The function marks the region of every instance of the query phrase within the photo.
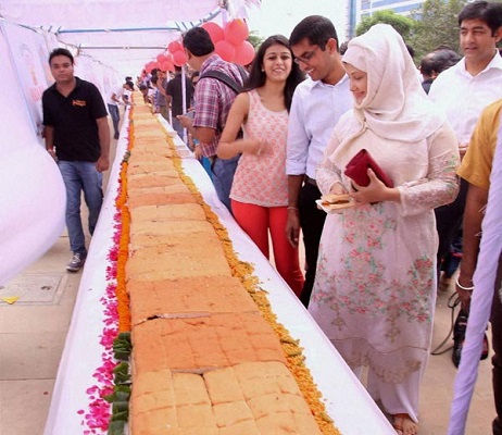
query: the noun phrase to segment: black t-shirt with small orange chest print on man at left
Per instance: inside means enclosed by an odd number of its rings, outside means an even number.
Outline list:
[[[75,77],[75,89],[64,97],[55,84],[42,96],[43,125],[54,128],[54,147],[58,159],[96,162],[101,154],[98,123],[108,115],[98,88]]]

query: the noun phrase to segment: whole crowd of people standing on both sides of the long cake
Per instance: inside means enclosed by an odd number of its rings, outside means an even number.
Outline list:
[[[452,246],[462,257],[453,351],[455,365],[461,362],[501,116],[502,4],[468,3],[459,27],[463,57],[438,47],[417,70],[390,25],[373,26],[341,50],[332,23],[308,16],[289,39],[265,39],[248,71],[221,59],[209,33],[194,27],[183,40],[193,72],[185,83],[180,69],[171,79],[158,70],[138,83],[145,101],[205,161],[218,198],[267,258],[271,238],[278,273],[354,373],[367,368],[368,393],[405,435],[418,433],[436,295],[441,271],[445,279],[454,273],[454,265],[444,266]],[[91,84],[73,77],[73,58],[59,50],[49,60],[55,84],[43,95],[43,124],[47,149],[74,199],[66,222],[83,262],[79,186],[93,210],[92,231],[110,137],[104,103]],[[88,102],[85,122],[79,104],[65,109],[70,96]],[[109,101],[115,135],[120,98],[116,89]],[[85,128],[88,142],[65,127],[63,110],[75,112],[71,121]],[[378,166],[363,169],[368,183],[346,174],[362,150]],[[348,196],[351,207],[326,213],[316,201],[327,195]],[[495,435],[502,434],[500,287],[499,274]],[[480,358],[488,340],[485,347]]]

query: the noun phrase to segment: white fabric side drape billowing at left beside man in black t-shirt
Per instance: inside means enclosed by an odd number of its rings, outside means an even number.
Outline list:
[[[21,51],[27,41],[15,37],[29,35],[29,30],[10,32],[13,49],[8,46],[5,27],[0,27],[0,285],[53,245],[63,231],[66,207],[60,171],[40,146],[33,123],[36,117],[41,125],[43,38],[40,46],[33,38],[34,46]],[[23,69],[15,70],[10,52],[20,63],[25,59]],[[23,89],[21,83],[28,88]]]

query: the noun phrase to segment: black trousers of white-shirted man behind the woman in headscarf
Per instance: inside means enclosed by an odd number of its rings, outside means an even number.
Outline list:
[[[435,209],[436,228],[438,229],[438,277],[441,260],[450,252],[450,246],[459,234],[462,220],[464,219],[465,199],[467,197],[468,183],[461,178],[461,186],[456,199],[447,206]]]

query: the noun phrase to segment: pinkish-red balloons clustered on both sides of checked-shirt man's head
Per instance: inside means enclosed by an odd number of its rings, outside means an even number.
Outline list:
[[[223,60],[235,62],[239,65],[248,65],[254,59],[254,47],[247,40],[249,36],[248,25],[243,20],[229,21],[223,28],[213,22],[202,24],[210,35],[214,45],[214,51]],[[147,73],[153,69],[174,71],[174,66],[181,66],[187,62],[184,47],[179,41],[172,41],[167,50],[145,65]]]

